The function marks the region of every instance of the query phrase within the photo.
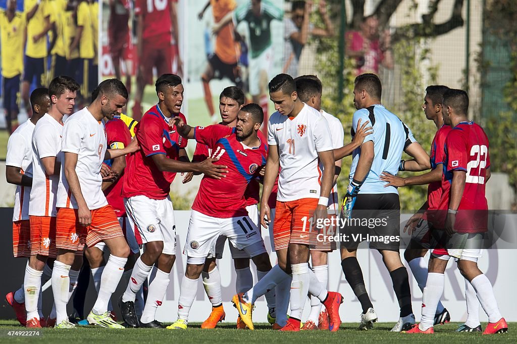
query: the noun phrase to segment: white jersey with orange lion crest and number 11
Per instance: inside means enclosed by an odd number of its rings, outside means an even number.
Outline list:
[[[280,155],[277,200],[319,198],[322,171],[318,152],[332,150],[330,128],[325,117],[307,104],[290,118],[277,111],[268,123],[269,149],[277,145]]]

